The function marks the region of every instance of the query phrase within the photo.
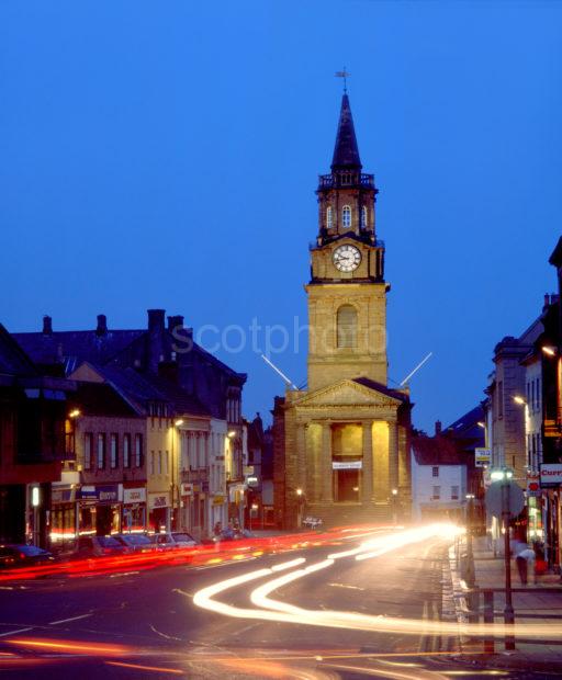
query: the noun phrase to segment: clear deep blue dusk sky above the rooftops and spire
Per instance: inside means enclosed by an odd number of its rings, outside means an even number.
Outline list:
[[[561,30],[540,0],[4,0],[0,320],[304,324],[347,65],[381,192],[390,376],[432,351],[415,422],[454,420],[555,287]],[[305,349],[272,354],[297,384]],[[279,377],[251,347],[218,355],[249,375],[246,415],[267,412]]]

